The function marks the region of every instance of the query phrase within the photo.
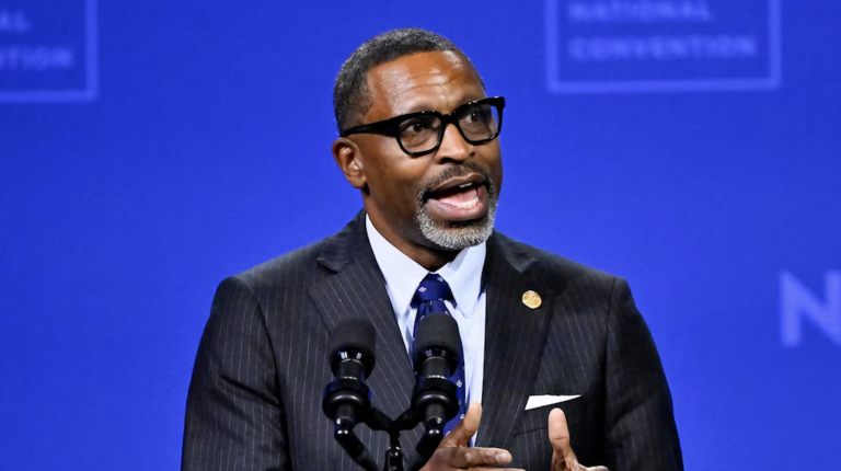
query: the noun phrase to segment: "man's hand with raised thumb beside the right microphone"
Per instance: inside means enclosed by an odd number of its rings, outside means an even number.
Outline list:
[[[471,402],[464,420],[457,425],[449,435],[443,437],[441,444],[426,462],[420,471],[505,471],[496,468],[499,464],[511,462],[511,453],[500,448],[471,448],[468,447],[471,437],[476,434],[479,423],[482,420],[482,406],[477,402]],[[492,467],[492,468],[486,468]],[[517,471],[517,470],[508,470]],[[519,470],[522,471],[522,470]]]

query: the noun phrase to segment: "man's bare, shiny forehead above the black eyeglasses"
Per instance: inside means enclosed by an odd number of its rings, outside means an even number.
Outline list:
[[[372,119],[424,110],[449,113],[484,97],[473,67],[454,51],[418,53],[382,64],[368,72]]]

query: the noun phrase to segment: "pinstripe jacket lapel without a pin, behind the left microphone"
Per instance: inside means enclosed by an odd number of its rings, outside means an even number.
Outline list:
[[[411,404],[415,376],[385,291],[385,280],[368,242],[365,212],[331,238],[319,262],[335,273],[310,288],[310,297],[330,330],[352,317],[373,324],[377,366],[367,383],[373,391],[373,405],[396,418]],[[416,427],[403,433],[408,437],[403,440],[404,448],[412,448],[418,441],[418,432]]]

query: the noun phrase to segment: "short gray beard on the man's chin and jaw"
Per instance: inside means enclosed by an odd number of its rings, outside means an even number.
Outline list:
[[[418,195],[417,214],[415,215],[415,221],[420,230],[420,234],[435,245],[447,250],[462,250],[487,241],[494,232],[497,196],[493,182],[489,180],[486,188],[487,211],[485,215],[472,221],[453,222],[449,227],[441,227],[433,220],[424,204],[424,192],[420,192]]]

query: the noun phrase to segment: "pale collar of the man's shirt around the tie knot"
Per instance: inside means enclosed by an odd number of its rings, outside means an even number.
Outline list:
[[[417,286],[429,272],[387,241],[373,227],[368,215],[365,216],[365,227],[394,308],[399,313],[405,314]],[[456,307],[465,318],[470,318],[475,311],[482,292],[482,268],[485,265],[486,251],[485,242],[469,246],[459,252],[452,262],[434,272],[450,285]]]

